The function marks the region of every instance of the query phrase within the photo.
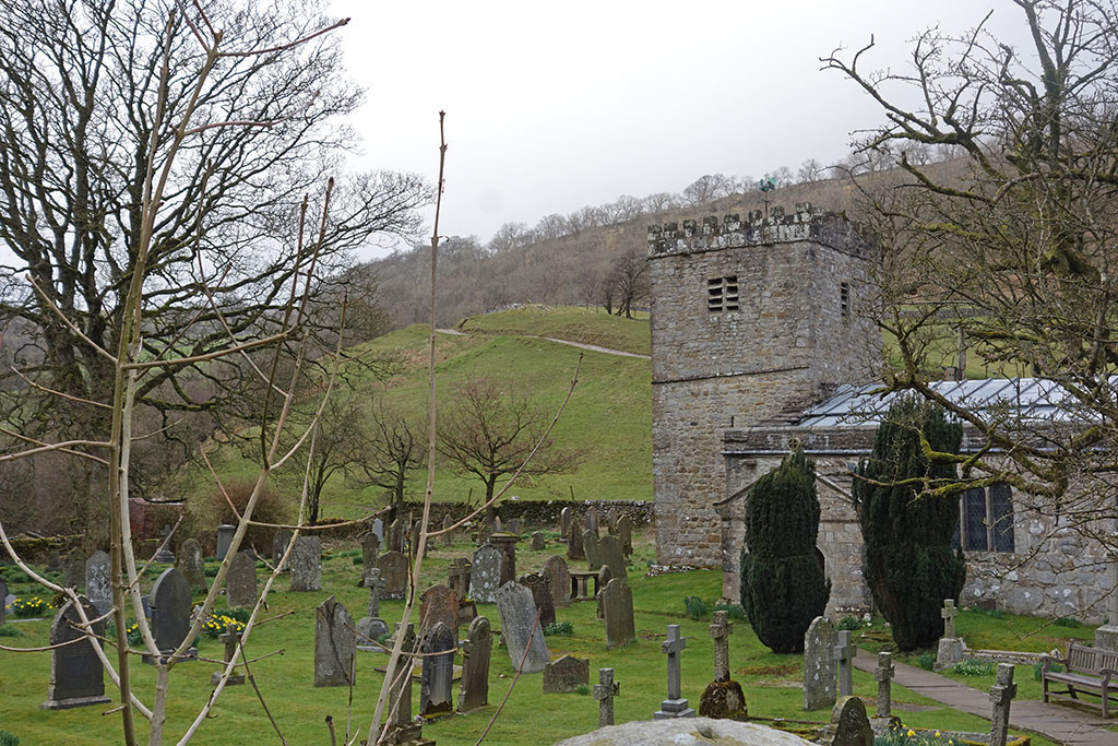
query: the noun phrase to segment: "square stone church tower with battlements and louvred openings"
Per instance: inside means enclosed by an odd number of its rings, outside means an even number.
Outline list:
[[[650,228],[659,564],[722,565],[726,429],[794,421],[873,378],[875,257],[853,224],[808,204]]]

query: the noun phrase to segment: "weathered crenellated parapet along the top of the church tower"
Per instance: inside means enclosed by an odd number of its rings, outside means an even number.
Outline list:
[[[750,210],[746,219],[737,213],[709,216],[698,220],[648,226],[648,257],[688,255],[701,252],[750,245],[813,240],[853,256],[875,255],[873,243],[858,223],[842,213],[817,210],[811,202],[798,202],[795,211],[774,206],[768,217],[761,210]]]

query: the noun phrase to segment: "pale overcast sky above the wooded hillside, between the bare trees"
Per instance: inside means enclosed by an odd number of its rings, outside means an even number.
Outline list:
[[[331,3],[352,17],[347,67],[367,89],[357,164],[434,181],[445,110],[440,233],[483,242],[704,173],[834,162],[881,115],[821,56],[873,34],[864,67],[896,67],[921,30],[963,31],[992,9],[1020,40],[1010,0]]]

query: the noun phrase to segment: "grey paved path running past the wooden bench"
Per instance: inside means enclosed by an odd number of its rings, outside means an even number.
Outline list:
[[[854,668],[873,672],[878,657],[859,650]],[[894,662],[897,676],[893,683],[930,697],[964,712],[989,718],[989,692],[974,689],[945,676],[925,671],[915,665]],[[899,708],[898,708],[899,709]],[[1083,712],[1071,707],[1045,705],[1034,699],[1015,699],[1010,708],[1010,727],[1033,730],[1064,744],[1065,746],[1118,746],[1118,733],[1107,730],[1101,716]]]

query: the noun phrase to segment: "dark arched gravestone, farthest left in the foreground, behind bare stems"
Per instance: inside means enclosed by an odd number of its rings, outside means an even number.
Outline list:
[[[97,611],[84,597],[79,597],[86,616],[98,616]],[[73,601],[67,601],[55,614],[50,625],[50,644],[61,645],[70,640],[80,640],[85,633],[75,624],[82,621]],[[92,626],[94,635],[105,635],[105,622]],[[50,683],[47,687],[47,701],[40,706],[45,710],[65,710],[72,707],[87,705],[104,705],[110,700],[105,697],[104,669],[93,645],[98,644],[87,639],[85,642],[55,648],[50,651]],[[10,693],[10,692],[9,692]]]

